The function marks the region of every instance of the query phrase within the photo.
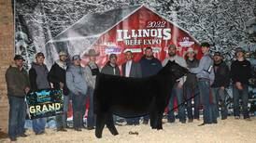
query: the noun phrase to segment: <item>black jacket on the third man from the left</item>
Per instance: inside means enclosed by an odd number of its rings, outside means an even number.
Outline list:
[[[48,80],[50,83],[53,84],[53,88],[60,89],[60,82],[64,83],[64,95],[68,95],[68,88],[66,86],[66,80],[65,80],[65,72],[66,70],[62,67],[60,67],[56,62],[51,66],[49,74],[48,74]]]

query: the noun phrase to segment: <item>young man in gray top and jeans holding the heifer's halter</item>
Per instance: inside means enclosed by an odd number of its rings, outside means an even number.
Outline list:
[[[210,45],[208,43],[201,44],[202,53],[204,56],[199,61],[199,66],[197,68],[191,68],[192,73],[196,73],[198,80],[198,87],[200,92],[200,97],[202,98],[203,108],[204,108],[204,123],[217,123],[217,116],[214,110],[216,101],[213,101],[210,97],[211,88],[210,85],[214,81],[214,71],[213,71],[213,60],[209,55]]]

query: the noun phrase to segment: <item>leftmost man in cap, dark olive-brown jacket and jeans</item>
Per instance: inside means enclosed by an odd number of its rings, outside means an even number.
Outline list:
[[[14,64],[6,72],[7,96],[9,101],[8,136],[16,141],[19,136],[25,135],[26,104],[25,96],[30,90],[27,72],[23,69],[21,55],[14,57]]]

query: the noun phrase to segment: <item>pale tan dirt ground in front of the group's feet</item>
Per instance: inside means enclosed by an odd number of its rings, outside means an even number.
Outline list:
[[[40,143],[40,142],[109,142],[109,143],[155,143],[155,142],[177,142],[177,143],[211,143],[211,142],[256,142],[256,117],[251,121],[243,119],[235,120],[230,116],[227,120],[218,120],[217,124],[207,124],[198,126],[203,121],[193,121],[193,123],[166,123],[164,130],[152,130],[149,125],[123,125],[116,126],[120,135],[112,136],[107,128],[104,129],[103,137],[98,139],[94,136],[94,130],[83,129],[82,132],[68,129],[67,132],[56,132],[53,129],[46,129],[46,134],[36,136],[31,130],[28,130],[27,137],[19,137],[17,142],[21,143]],[[129,134],[137,132],[138,135]],[[0,142],[10,142],[8,138],[1,138]]]

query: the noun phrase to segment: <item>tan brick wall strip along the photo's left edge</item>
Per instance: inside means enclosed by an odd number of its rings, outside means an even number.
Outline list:
[[[0,128],[7,131],[8,100],[5,72],[14,55],[11,0],[0,0]]]

